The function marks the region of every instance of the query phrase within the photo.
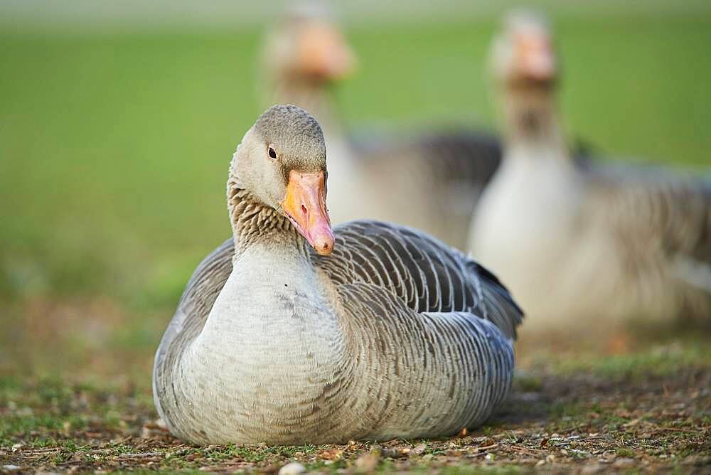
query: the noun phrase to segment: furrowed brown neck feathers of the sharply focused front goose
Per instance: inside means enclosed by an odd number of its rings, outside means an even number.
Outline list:
[[[228,210],[235,240],[235,257],[256,243],[296,247],[306,255],[306,241],[294,225],[274,208],[265,205],[240,186],[240,180],[230,167],[227,183]]]

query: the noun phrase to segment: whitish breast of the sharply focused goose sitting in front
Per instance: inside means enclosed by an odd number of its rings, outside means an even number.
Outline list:
[[[235,262],[176,378],[184,404],[200,407],[186,410],[193,422],[183,424],[191,429],[183,437],[278,440],[289,415],[309,423],[304,414],[338,367],[340,331],[318,288],[314,272],[274,250],[250,250]]]

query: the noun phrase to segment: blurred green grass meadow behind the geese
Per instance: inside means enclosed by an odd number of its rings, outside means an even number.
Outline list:
[[[711,4],[640,11],[552,16],[567,132],[605,155],[707,173]],[[228,163],[265,106],[262,28],[2,24],[0,370],[53,368],[38,346],[91,365],[87,344],[149,370],[189,275],[230,233]],[[495,129],[486,53],[498,25],[348,28],[360,69],[335,91],[346,123]]]

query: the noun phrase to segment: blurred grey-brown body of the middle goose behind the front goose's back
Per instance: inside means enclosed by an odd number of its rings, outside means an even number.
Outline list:
[[[496,137],[464,130],[387,137],[359,154],[363,175],[378,191],[369,217],[466,249],[471,213],[501,161]]]

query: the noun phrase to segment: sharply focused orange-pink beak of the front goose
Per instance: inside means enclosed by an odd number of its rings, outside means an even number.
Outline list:
[[[333,251],[335,238],[326,210],[324,172],[315,174],[289,171],[287,196],[282,205],[287,218],[320,255]]]

